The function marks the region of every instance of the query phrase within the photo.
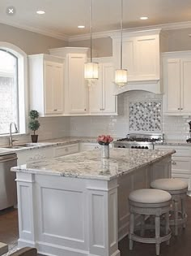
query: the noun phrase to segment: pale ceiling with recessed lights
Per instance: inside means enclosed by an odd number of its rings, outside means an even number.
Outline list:
[[[191,21],[191,0],[123,0],[124,28]],[[93,32],[120,28],[119,0],[92,0]],[[6,7],[15,7],[13,16]],[[38,9],[45,15],[37,15]],[[148,16],[148,20],[139,20]],[[89,0],[0,0],[0,23],[19,28],[76,36],[89,33]],[[86,28],[79,29],[84,24]]]

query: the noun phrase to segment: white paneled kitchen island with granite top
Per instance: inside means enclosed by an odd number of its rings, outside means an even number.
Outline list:
[[[171,177],[173,153],[112,149],[104,159],[91,150],[11,168],[17,175],[19,247],[57,256],[119,256],[130,191]]]

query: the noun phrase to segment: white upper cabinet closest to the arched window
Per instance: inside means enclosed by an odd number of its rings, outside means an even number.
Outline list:
[[[63,115],[64,59],[35,54],[28,60],[30,109],[40,116]]]

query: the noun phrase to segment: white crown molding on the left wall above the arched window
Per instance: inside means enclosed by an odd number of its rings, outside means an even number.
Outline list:
[[[27,26],[27,25],[23,25],[23,24],[19,24],[19,23],[5,22],[1,19],[0,19],[0,23],[9,25],[11,27],[28,30],[28,31],[31,31],[33,33],[38,33],[38,34],[41,34],[41,35],[44,35],[44,36],[47,36],[47,37],[53,37],[53,38],[57,38],[57,39],[60,39],[60,40],[63,40],[63,41],[69,41],[69,36],[68,35],[61,34],[61,33],[56,33],[55,31],[50,30],[48,28],[34,28],[32,26]]]

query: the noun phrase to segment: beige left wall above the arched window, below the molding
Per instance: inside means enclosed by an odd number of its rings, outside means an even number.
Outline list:
[[[48,53],[50,48],[67,46],[66,41],[0,24],[0,41],[18,46],[26,54]]]

